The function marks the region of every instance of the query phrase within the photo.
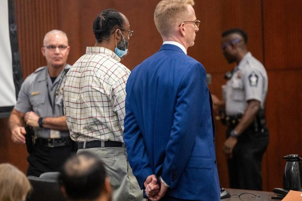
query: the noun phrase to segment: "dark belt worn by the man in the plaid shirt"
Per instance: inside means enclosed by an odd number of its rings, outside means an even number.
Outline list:
[[[85,145],[85,146],[84,146]],[[89,149],[97,147],[125,147],[122,142],[93,140],[86,142],[78,142],[78,149]]]

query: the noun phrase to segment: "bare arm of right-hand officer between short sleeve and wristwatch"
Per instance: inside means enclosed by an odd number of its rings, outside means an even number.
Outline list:
[[[249,127],[249,125],[254,122],[257,112],[260,109],[260,102],[258,100],[250,100],[241,121],[238,123],[234,129],[239,135]]]

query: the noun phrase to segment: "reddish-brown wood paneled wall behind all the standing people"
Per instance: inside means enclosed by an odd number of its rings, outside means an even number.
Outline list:
[[[129,19],[134,34],[129,55],[122,61],[133,69],[156,52],[162,39],[156,30],[153,13],[158,0],[15,0],[21,65],[24,77],[45,65],[41,54],[44,34],[52,29],[67,33],[71,47],[68,62],[73,64],[94,46],[92,23],[105,8],[114,8]],[[229,28],[241,28],[248,33],[248,48],[264,63],[269,89],[266,116],[270,143],[263,159],[263,190],[282,187],[285,161],[282,156],[302,154],[302,2],[300,0],[211,0],[196,1],[195,12],[201,21],[195,45],[188,54],[204,64],[212,75],[209,88],[221,97],[223,75],[233,68],[222,56],[221,33]],[[27,168],[25,146],[10,140],[7,120],[0,120],[4,141],[0,146],[0,162],[11,162],[23,171]],[[216,155],[223,187],[228,187],[226,159],[222,153],[226,128],[216,122]],[[5,152],[3,151],[5,150]]]

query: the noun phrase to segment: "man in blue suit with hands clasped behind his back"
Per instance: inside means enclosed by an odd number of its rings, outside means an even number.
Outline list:
[[[193,0],[158,3],[154,21],[164,43],[133,69],[126,85],[129,163],[154,201],[220,200],[206,72],[187,56],[200,24],[193,5]]]

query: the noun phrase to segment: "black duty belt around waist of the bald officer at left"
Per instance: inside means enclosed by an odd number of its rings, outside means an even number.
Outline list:
[[[70,137],[62,138],[36,138],[33,140],[35,145],[46,146],[46,147],[62,147],[71,144]]]

